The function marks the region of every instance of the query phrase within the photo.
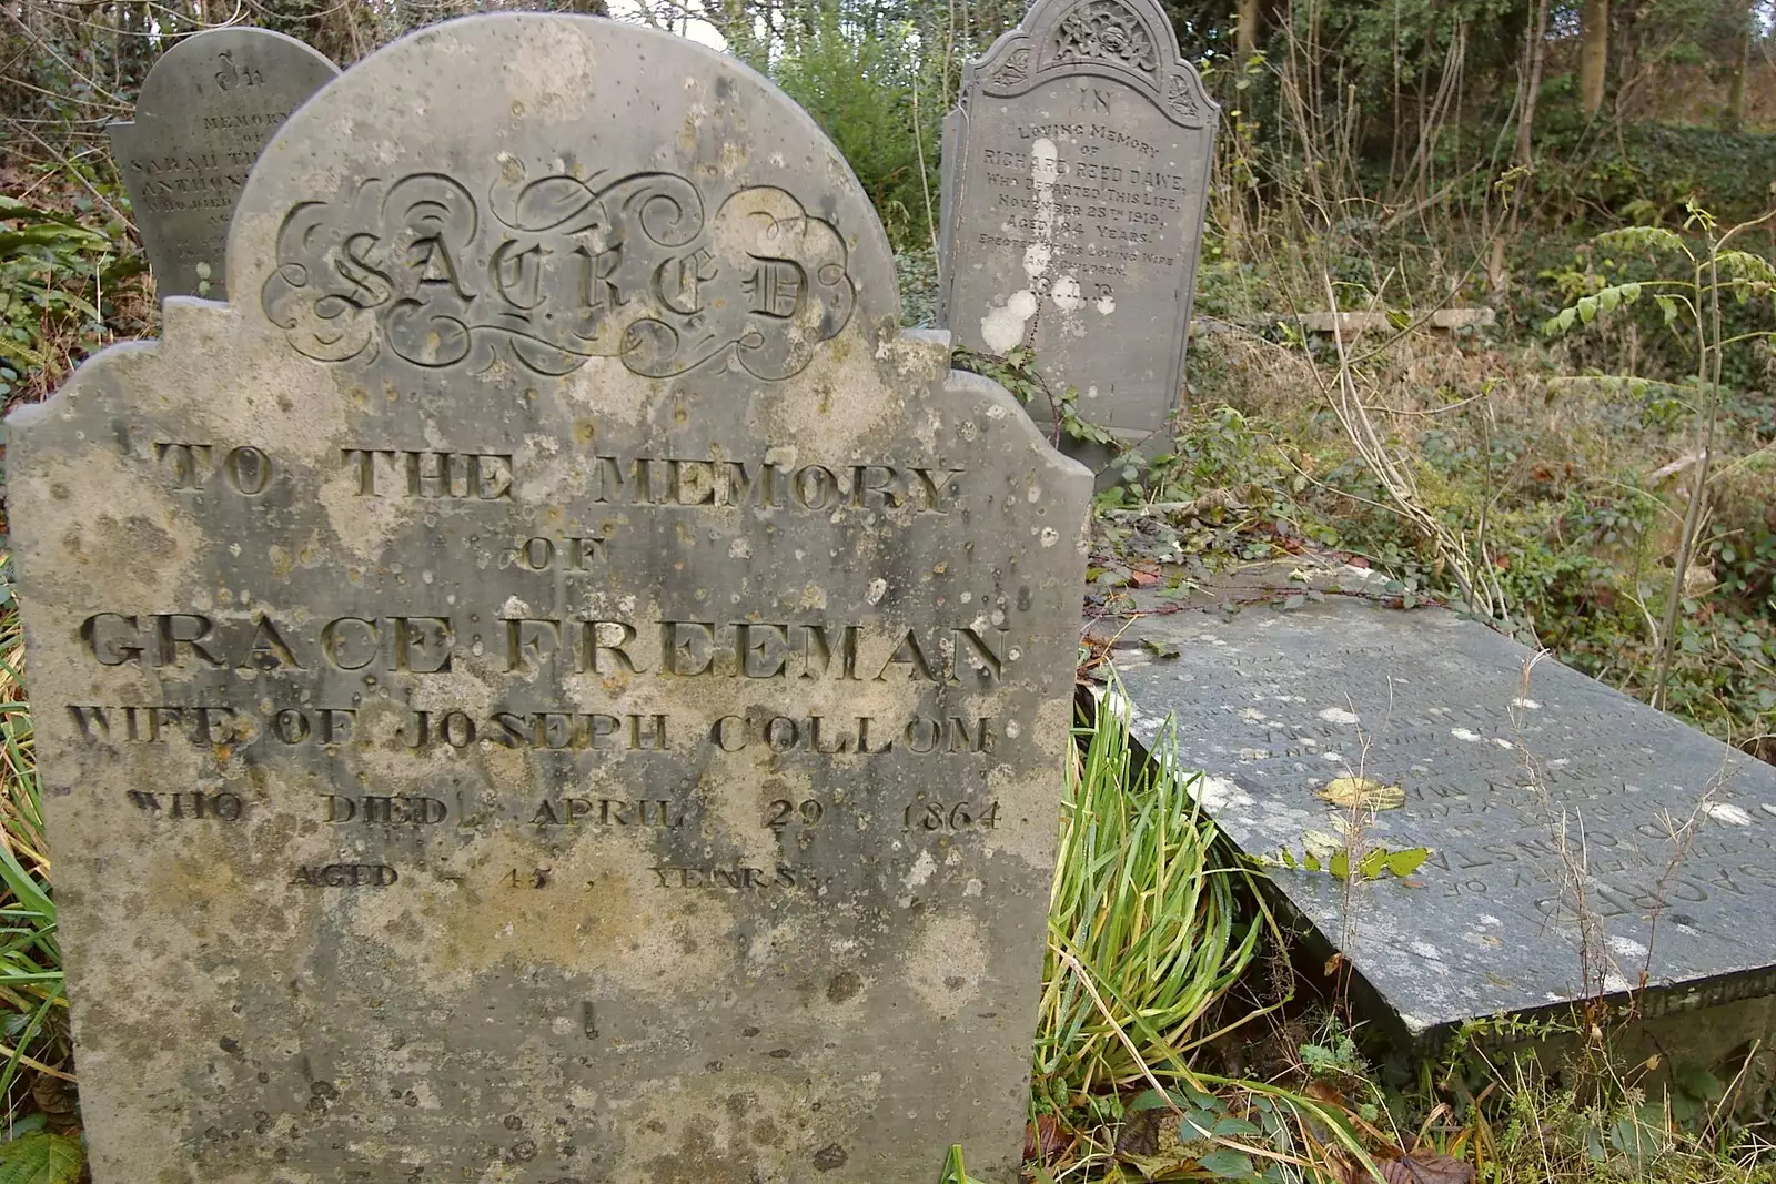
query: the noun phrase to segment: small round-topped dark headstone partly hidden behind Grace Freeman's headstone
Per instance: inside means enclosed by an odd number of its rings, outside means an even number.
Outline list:
[[[222,250],[234,201],[265,142],[339,67],[268,28],[211,28],[167,50],[110,124],[155,288],[226,300]]]

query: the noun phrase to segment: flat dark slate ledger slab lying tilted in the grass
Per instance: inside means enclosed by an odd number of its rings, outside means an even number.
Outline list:
[[[1357,847],[1431,849],[1421,886],[1346,898],[1272,872],[1396,1037],[1621,996],[1643,971],[1643,1015],[1776,994],[1776,769],[1440,609],[1183,612],[1122,644],[1137,737],[1176,717],[1179,765],[1247,852],[1343,838],[1350,811],[1316,795],[1336,777],[1399,786]]]

